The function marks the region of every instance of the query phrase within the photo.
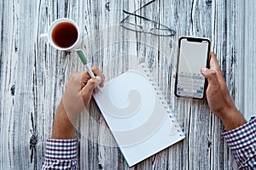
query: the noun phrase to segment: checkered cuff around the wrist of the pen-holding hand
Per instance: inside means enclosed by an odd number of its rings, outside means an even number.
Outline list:
[[[46,160],[74,160],[76,158],[77,139],[47,139]]]

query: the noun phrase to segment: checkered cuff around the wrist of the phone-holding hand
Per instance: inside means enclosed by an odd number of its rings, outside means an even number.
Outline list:
[[[240,150],[248,145],[256,144],[256,118],[247,124],[222,133],[231,150]]]

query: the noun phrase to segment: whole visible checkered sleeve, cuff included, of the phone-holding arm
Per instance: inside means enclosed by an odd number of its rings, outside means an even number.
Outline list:
[[[247,124],[222,133],[239,169],[256,169],[256,117]]]

